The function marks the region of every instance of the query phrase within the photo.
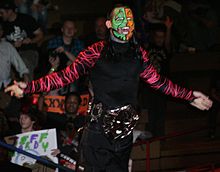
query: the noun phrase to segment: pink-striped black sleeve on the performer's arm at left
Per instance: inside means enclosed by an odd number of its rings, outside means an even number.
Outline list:
[[[104,42],[97,42],[82,51],[76,60],[65,69],[29,82],[24,89],[24,94],[48,92],[74,82],[95,65],[96,61],[100,58],[103,47]]]

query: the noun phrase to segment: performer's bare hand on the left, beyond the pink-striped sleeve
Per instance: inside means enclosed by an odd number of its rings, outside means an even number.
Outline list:
[[[23,89],[27,87],[27,84],[24,82],[14,81],[14,84],[5,88],[5,92],[10,92],[11,96],[15,96],[17,98],[22,98]]]

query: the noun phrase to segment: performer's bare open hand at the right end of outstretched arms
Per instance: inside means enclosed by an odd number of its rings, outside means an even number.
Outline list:
[[[190,104],[197,107],[200,110],[209,110],[212,107],[212,100],[208,96],[199,92],[193,91],[193,95],[196,97]]]

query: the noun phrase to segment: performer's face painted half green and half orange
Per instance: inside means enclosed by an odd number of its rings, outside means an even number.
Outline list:
[[[134,31],[134,17],[131,9],[119,7],[113,10],[112,16],[113,35],[122,40],[128,41]]]

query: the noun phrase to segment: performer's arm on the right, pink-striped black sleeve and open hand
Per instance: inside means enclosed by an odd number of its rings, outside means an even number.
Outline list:
[[[159,75],[150,63],[147,52],[141,49],[143,55],[143,70],[140,77],[154,89],[160,90],[166,95],[181,98],[190,102],[192,106],[200,110],[208,110],[212,106],[212,100],[208,96],[199,92],[183,88],[174,84],[168,78]]]

